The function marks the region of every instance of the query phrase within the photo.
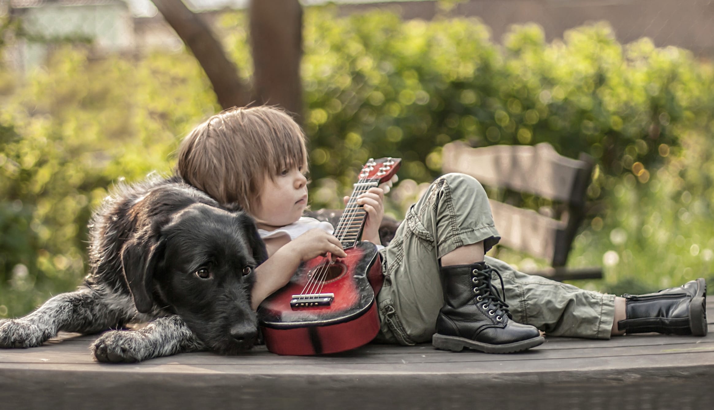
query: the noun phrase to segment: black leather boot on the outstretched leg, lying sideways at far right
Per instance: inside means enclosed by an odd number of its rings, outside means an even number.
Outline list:
[[[700,278],[678,288],[653,294],[624,294],[625,320],[618,329],[626,333],[707,334],[707,284]]]

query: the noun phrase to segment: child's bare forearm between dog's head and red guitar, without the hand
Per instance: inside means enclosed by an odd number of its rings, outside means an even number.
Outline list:
[[[254,271],[256,281],[251,291],[251,306],[253,310],[258,309],[263,299],[288,284],[290,278],[298,270],[300,262],[301,259],[298,255],[283,246],[273,256],[256,267]]]

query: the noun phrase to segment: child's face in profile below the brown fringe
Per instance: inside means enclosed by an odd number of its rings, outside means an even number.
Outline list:
[[[303,216],[308,204],[308,181],[302,170],[302,166],[283,169],[272,181],[268,175],[263,177],[260,201],[253,208],[258,228],[286,226]]]

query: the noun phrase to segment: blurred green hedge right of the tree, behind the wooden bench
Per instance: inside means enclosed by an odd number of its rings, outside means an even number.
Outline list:
[[[368,156],[398,153],[403,177],[427,181],[441,171],[441,146],[456,139],[548,141],[561,154],[600,159],[603,175],[639,163],[646,178],[663,163],[660,147],[676,149],[678,135],[710,121],[710,65],[648,39],[623,50],[603,24],[552,44],[538,26],[516,27],[500,49],[474,19],[316,11],[307,20],[305,126],[316,179],[350,181]]]

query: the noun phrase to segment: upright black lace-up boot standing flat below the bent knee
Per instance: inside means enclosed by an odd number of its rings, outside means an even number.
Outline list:
[[[436,349],[484,353],[513,353],[531,349],[545,339],[533,326],[511,320],[503,300],[501,274],[485,262],[442,266],[444,306],[436,319],[431,341]],[[501,295],[491,284],[491,273],[501,279]]]

